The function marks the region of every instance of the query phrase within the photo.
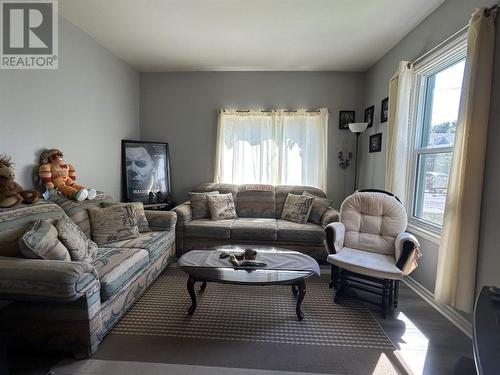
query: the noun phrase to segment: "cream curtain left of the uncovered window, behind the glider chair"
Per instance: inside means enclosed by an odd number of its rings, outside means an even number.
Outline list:
[[[414,78],[413,67],[408,67],[408,61],[401,61],[398,71],[389,81],[385,189],[398,196],[401,202],[406,202],[406,179],[410,158],[408,121]]]

